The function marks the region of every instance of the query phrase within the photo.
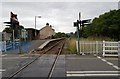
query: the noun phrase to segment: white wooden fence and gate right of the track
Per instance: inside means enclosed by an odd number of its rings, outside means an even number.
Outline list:
[[[120,53],[120,42],[80,41],[80,53],[118,56]]]

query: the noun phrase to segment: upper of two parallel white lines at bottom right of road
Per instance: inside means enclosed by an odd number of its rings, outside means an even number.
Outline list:
[[[118,72],[120,72],[120,71],[67,71],[66,73],[67,74],[84,74],[84,73],[91,73],[91,74],[93,74],[93,73],[101,73],[101,74],[104,74],[104,73],[118,73]]]

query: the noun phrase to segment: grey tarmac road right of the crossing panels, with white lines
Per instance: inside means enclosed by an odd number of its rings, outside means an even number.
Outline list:
[[[109,61],[112,63],[108,62],[108,58],[103,59],[94,55],[68,55],[66,56],[67,77],[69,79],[119,79],[117,58]]]

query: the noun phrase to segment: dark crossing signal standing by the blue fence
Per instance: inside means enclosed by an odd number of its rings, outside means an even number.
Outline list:
[[[13,41],[13,48],[15,48],[15,39],[19,39],[19,52],[21,53],[21,27],[19,25],[19,21],[17,18],[17,14],[13,14],[10,12],[10,22],[4,22],[7,24],[6,26],[9,26],[12,28],[12,41]]]

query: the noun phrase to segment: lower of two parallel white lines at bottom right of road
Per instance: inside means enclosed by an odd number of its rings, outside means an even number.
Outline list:
[[[93,77],[93,76],[116,76],[118,77],[118,74],[67,74],[68,77],[80,77],[80,76],[85,76],[85,77]]]

